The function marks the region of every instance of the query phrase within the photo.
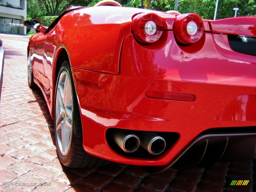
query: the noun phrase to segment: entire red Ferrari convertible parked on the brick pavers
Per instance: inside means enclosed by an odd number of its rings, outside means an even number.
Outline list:
[[[256,17],[71,7],[29,39],[67,167],[109,161],[149,172],[255,159]]]

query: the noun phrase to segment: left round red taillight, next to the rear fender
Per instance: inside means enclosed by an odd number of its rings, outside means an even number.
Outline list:
[[[156,42],[163,34],[164,24],[154,13],[142,13],[133,18],[132,31],[135,38],[141,43]]]

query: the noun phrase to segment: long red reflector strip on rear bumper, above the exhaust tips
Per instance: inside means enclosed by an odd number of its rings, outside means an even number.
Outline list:
[[[195,96],[191,94],[184,93],[170,93],[170,92],[160,92],[160,91],[147,91],[146,97],[154,99],[166,99],[175,101],[194,101]]]

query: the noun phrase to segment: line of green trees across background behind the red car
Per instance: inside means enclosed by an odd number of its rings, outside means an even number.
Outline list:
[[[93,6],[100,0],[27,0],[28,16],[58,15],[70,6]],[[116,0],[123,6],[148,8],[153,10],[174,10],[175,0]],[[213,19],[216,0],[179,0],[180,13],[196,13],[203,19]],[[256,15],[256,0],[219,0],[217,19],[237,16]]]

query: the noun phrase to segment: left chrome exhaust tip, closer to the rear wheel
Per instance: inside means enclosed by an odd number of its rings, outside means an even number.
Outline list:
[[[115,143],[126,153],[133,153],[140,146],[139,137],[128,130],[115,130],[113,138]]]

